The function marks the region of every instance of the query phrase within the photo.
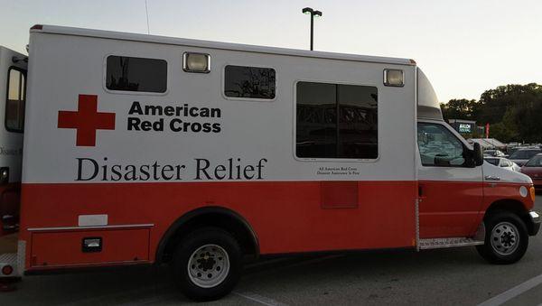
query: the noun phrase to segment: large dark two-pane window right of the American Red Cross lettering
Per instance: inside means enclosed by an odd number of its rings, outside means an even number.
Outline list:
[[[297,157],[378,157],[376,87],[298,82],[296,97]]]

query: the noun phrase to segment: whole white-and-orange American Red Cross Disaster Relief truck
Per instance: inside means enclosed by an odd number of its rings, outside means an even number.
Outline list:
[[[210,300],[244,255],[510,264],[540,227],[532,181],[483,162],[414,60],[35,25],[0,97],[4,277],[170,263]]]

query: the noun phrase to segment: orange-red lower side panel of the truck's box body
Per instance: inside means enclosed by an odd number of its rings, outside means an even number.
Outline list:
[[[416,181],[320,181],[23,184],[21,239],[26,266],[105,264],[148,259],[166,230],[207,206],[237,212],[257,235],[261,254],[416,246]],[[345,196],[337,190],[347,190]],[[335,199],[335,198],[337,199]],[[102,254],[82,254],[94,233],[28,231],[77,227],[79,215],[107,215]],[[79,229],[78,229],[79,230]],[[107,241],[111,241],[108,243]],[[111,248],[110,248],[111,247]]]

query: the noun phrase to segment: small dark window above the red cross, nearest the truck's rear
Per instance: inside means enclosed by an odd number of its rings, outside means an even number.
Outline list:
[[[107,57],[106,87],[109,90],[163,93],[167,89],[165,60]]]

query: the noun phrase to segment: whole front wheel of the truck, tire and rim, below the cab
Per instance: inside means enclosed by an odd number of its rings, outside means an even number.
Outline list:
[[[485,244],[476,246],[478,253],[491,264],[513,264],[527,251],[528,231],[525,223],[508,211],[497,211],[484,220]]]

